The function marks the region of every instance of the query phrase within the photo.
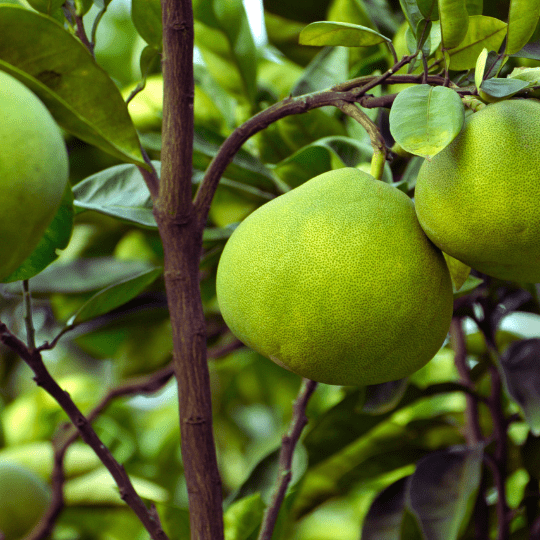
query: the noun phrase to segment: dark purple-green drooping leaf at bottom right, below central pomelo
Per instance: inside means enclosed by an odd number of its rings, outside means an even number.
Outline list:
[[[456,540],[474,504],[482,446],[451,448],[422,458],[412,475],[408,506],[428,540]]]

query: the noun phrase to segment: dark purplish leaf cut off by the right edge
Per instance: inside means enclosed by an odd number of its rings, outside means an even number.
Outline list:
[[[540,434],[540,339],[516,341],[501,357],[506,389],[520,406],[535,435]]]

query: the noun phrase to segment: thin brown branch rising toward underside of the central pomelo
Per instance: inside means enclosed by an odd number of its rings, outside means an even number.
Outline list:
[[[258,540],[271,540],[274,527],[278,518],[279,510],[285,499],[287,487],[292,478],[292,460],[294,449],[300,439],[302,430],[308,419],[306,407],[309,398],[317,388],[317,383],[309,379],[302,379],[302,385],[298,397],[294,402],[293,417],[287,435],[283,437],[281,451],[279,453],[279,470],[276,490],[272,496],[270,506],[266,509]]]

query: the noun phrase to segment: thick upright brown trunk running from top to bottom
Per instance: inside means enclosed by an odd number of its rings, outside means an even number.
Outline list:
[[[206,321],[199,288],[205,223],[195,214],[192,203],[193,9],[191,0],[162,0],[161,5],[163,145],[154,216],[164,251],[191,538],[222,540],[223,495],[212,431]]]

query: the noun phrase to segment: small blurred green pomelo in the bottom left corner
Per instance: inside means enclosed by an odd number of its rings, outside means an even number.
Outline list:
[[[26,536],[45,514],[50,489],[32,472],[0,462],[0,531],[5,540]]]

